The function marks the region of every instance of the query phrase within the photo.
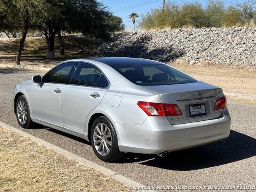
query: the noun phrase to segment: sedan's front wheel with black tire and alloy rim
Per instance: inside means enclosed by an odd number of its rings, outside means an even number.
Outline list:
[[[35,123],[32,122],[30,118],[28,101],[26,100],[26,97],[24,95],[18,98],[15,106],[15,112],[18,124],[22,128],[30,129],[35,125]]]

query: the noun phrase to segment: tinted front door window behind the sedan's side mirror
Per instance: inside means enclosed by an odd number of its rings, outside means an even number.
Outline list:
[[[56,66],[42,77],[42,82],[66,84],[75,64],[75,62],[68,62]]]

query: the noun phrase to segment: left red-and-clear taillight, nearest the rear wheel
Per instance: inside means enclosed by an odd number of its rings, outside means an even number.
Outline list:
[[[182,114],[176,104],[162,104],[144,101],[138,101],[137,104],[148,116],[176,116]]]

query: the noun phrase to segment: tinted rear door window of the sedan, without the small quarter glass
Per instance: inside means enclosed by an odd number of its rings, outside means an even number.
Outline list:
[[[101,72],[98,69],[88,64],[80,64],[70,84],[96,87],[100,76]]]

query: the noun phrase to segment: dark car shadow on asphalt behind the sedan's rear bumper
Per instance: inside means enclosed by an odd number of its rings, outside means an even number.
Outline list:
[[[140,164],[168,170],[198,170],[236,162],[256,155],[256,139],[230,130],[225,144],[213,143],[154,158]]]

